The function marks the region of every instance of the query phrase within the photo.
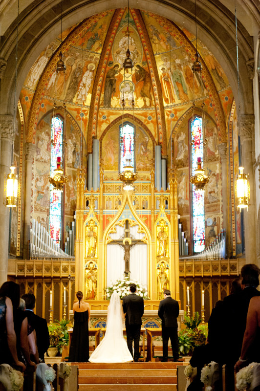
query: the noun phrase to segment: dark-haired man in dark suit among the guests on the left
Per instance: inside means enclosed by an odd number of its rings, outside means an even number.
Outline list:
[[[36,331],[39,358],[42,362],[44,362],[44,353],[50,346],[49,330],[46,319],[41,318],[33,312],[36,299],[32,293],[22,295],[22,299],[25,301],[25,312],[28,318],[28,323]]]

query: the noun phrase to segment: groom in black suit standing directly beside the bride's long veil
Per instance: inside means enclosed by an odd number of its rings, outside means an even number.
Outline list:
[[[123,311],[126,315],[127,346],[133,360],[138,362],[140,357],[139,340],[144,314],[144,299],[136,295],[136,285],[130,285],[130,295],[123,297]],[[134,354],[133,354],[133,345]]]

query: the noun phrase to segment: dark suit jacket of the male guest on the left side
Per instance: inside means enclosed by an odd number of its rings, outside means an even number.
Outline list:
[[[43,360],[44,353],[50,346],[50,336],[46,319],[41,318],[30,310],[25,310],[28,322],[35,329],[39,357]]]

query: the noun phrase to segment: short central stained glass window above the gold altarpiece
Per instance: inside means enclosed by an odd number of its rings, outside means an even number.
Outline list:
[[[134,168],[134,127],[131,124],[124,124],[120,128],[120,173],[127,166],[127,159],[130,159],[130,165]]]

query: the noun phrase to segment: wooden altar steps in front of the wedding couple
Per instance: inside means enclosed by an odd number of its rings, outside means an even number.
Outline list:
[[[183,365],[173,362],[73,364],[79,366],[79,391],[176,391],[176,368]]]

